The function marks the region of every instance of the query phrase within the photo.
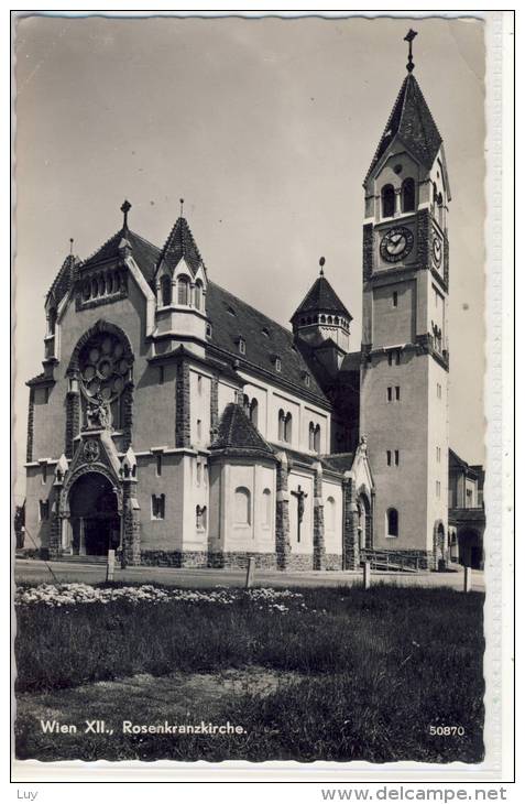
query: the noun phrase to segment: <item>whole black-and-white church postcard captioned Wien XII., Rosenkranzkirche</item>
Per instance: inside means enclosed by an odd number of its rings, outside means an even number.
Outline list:
[[[12,20],[18,778],[502,779],[512,12],[83,14]]]

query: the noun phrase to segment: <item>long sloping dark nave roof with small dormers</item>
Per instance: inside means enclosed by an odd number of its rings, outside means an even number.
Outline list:
[[[303,395],[317,396],[327,404],[327,399],[311,373],[305,358],[294,343],[293,333],[276,324],[272,318],[208,281],[206,311],[211,323],[211,344],[238,359],[240,367],[260,368],[274,374],[275,384],[293,385]],[[239,338],[245,344],[245,354],[239,351]],[[281,371],[275,368],[275,358],[281,358]],[[306,376],[310,378],[306,385]]]

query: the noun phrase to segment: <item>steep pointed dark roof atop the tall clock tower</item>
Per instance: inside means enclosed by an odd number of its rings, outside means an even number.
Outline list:
[[[406,76],[401,86],[364,181],[368,180],[397,134],[411,153],[427,170],[430,170],[442,140],[419,85],[412,73]]]

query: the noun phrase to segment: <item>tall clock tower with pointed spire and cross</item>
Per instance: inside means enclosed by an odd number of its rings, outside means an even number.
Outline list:
[[[450,189],[445,149],[407,75],[364,180],[361,434],[374,476],[373,547],[447,553]]]

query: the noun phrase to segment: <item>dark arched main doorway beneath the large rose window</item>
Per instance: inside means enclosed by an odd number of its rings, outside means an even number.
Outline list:
[[[120,544],[117,491],[108,478],[90,471],[75,481],[69,491],[73,553],[107,555]]]

